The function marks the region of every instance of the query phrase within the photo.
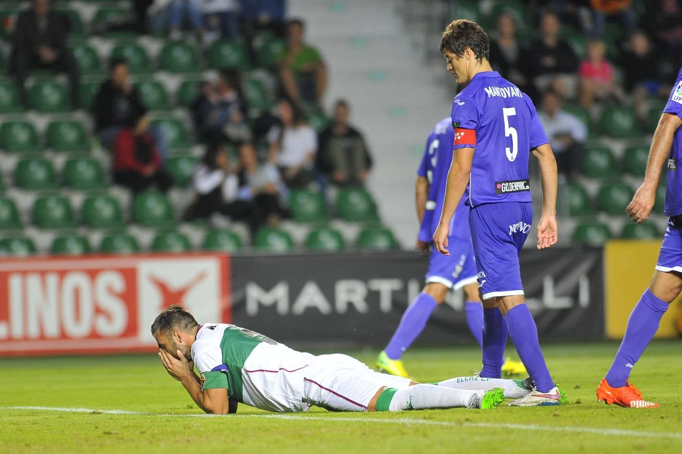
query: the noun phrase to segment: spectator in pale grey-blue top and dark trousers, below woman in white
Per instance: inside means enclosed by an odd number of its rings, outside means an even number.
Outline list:
[[[241,147],[239,154],[246,180],[244,194],[253,201],[254,230],[263,224],[277,226],[282,217],[288,217],[282,204],[286,187],[282,183],[280,172],[271,162],[259,164],[256,151],[251,145]]]

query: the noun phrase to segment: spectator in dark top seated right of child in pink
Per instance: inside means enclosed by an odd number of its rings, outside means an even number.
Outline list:
[[[644,32],[636,31],[630,37],[627,48],[621,52],[620,67],[625,91],[634,98],[637,114],[643,120],[646,117],[644,101],[647,95],[660,95],[667,91],[657,75],[657,58]]]

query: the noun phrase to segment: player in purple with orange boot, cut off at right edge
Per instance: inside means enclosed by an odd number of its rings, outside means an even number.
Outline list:
[[[628,382],[630,372],[658,329],[663,314],[682,290],[682,69],[677,74],[668,103],[653,133],[644,183],[625,210],[638,224],[653,209],[661,169],[667,162],[666,202],[669,217],[661,252],[649,288],[632,309],[621,347],[606,377],[599,383],[597,399],[627,408],[653,408],[658,404],[642,399],[642,393]]]

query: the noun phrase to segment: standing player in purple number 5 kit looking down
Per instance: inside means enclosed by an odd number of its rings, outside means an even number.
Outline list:
[[[529,156],[539,161],[542,217],[537,247],[557,243],[557,162],[528,95],[492,71],[488,35],[471,20],[454,20],[443,32],[441,52],[460,84],[452,103],[454,156],[434,246],[448,255],[449,224],[468,187],[471,240],[484,307],[481,377],[499,378],[507,330],[535,389],[510,406],[565,402],[547,369],[537,327],[524,300],[518,255],[533,223]]]

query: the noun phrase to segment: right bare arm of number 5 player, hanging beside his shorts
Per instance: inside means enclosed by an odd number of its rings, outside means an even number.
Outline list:
[[[549,144],[533,149],[542,179],[542,217],[537,224],[537,249],[557,244],[557,161]]]

